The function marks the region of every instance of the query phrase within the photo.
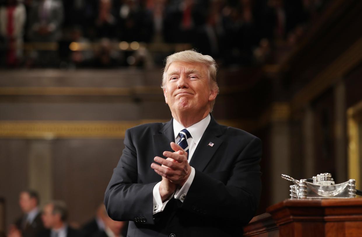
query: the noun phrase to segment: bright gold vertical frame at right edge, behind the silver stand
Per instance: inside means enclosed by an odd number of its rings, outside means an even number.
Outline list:
[[[356,188],[361,189],[361,121],[358,119],[362,114],[362,102],[347,110],[348,129],[348,176],[356,180]]]

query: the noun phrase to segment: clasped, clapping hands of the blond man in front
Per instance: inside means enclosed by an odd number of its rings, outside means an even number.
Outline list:
[[[182,187],[191,173],[187,152],[174,142],[171,142],[170,145],[174,152],[164,151],[163,155],[167,159],[156,156],[154,160],[161,165],[151,164],[151,168],[162,176],[159,188],[162,202],[168,199],[178,186]]]

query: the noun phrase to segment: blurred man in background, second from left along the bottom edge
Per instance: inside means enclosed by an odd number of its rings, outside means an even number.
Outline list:
[[[81,237],[79,230],[67,224],[68,210],[63,201],[51,201],[43,208],[42,220],[46,230],[39,237]]]

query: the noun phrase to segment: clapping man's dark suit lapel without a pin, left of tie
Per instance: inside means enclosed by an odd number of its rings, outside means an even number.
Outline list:
[[[160,133],[154,134],[152,137],[153,151],[155,152],[155,156],[164,157],[162,155],[164,151],[173,152],[170,146],[170,143],[175,141],[172,119],[165,123],[159,132]]]

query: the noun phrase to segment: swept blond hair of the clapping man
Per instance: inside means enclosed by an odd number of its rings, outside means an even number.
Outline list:
[[[166,57],[165,59],[165,68],[163,69],[163,75],[162,75],[162,84],[161,88],[163,89],[166,80],[167,80],[167,70],[171,63],[173,62],[182,62],[182,63],[202,63],[206,66],[207,71],[209,73],[209,83],[211,90],[217,91],[217,94],[219,94],[219,86],[216,82],[216,73],[218,71],[218,65],[216,64],[215,60],[209,56],[209,55],[203,55],[199,52],[197,52],[194,49],[191,50],[185,50],[177,53],[173,53],[172,55]],[[213,100],[210,104],[210,112],[212,111],[212,108],[214,108],[215,100]]]

